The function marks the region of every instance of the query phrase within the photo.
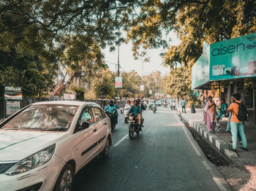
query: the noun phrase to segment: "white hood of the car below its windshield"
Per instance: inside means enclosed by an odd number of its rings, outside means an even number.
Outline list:
[[[0,130],[0,162],[22,160],[65,136],[67,132]]]

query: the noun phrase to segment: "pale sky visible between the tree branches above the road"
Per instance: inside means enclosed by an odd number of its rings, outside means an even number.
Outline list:
[[[169,42],[169,45],[177,45],[180,41],[176,37],[176,34],[171,33],[167,36],[167,39],[172,39]],[[142,75],[142,67],[143,67],[143,75],[150,74],[152,71],[161,71],[162,75],[166,75],[170,73],[170,69],[168,67],[162,66],[162,58],[159,55],[161,52],[166,52],[167,49],[154,49],[148,50],[147,55],[150,57],[150,61],[147,63],[143,63],[138,60],[135,61],[132,55],[132,43],[121,44],[120,46],[120,71],[132,71],[135,70],[138,74]],[[105,53],[105,61],[109,66],[110,71],[117,71],[117,58],[118,52],[117,49],[114,52],[109,52],[109,49],[106,48],[103,50]],[[143,65],[143,66],[142,66]]]

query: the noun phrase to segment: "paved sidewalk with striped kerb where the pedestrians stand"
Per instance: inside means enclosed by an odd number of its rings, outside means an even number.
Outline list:
[[[178,107],[178,112],[181,113],[181,107]],[[231,133],[226,132],[227,122],[222,121],[221,131],[215,133],[208,133],[205,122],[203,122],[203,110],[196,109],[196,113],[193,114],[190,112],[190,109],[187,109],[187,114],[182,114],[181,117],[189,123],[190,126],[195,128],[201,136],[208,140],[215,149],[218,149],[219,152],[233,160],[236,163],[247,163],[247,164],[256,164],[256,125],[246,122],[245,124],[245,134],[248,144],[248,152],[240,149],[238,144],[237,153],[228,150],[229,147],[232,147],[230,143]]]

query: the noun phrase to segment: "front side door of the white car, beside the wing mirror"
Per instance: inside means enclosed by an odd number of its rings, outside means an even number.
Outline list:
[[[83,121],[89,122],[89,128],[79,130],[80,123]],[[96,125],[91,106],[85,106],[80,114],[72,137],[73,142],[75,142],[75,156],[78,168],[82,168],[94,155],[94,149],[97,147]]]

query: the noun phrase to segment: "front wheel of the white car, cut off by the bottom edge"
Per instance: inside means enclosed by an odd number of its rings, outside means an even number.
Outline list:
[[[61,173],[57,179],[54,191],[71,191],[74,183],[75,169],[67,163],[62,168]]]

